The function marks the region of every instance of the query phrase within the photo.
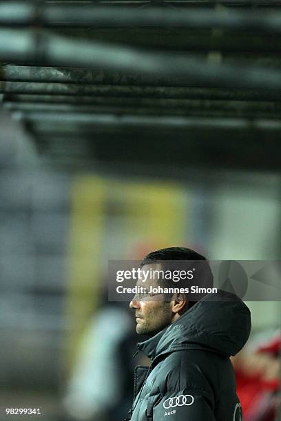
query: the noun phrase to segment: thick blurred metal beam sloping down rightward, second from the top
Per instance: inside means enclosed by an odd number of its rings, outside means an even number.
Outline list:
[[[98,66],[125,74],[156,76],[176,86],[269,89],[281,92],[280,72],[241,64],[213,63],[183,54],[142,52],[129,47],[69,40],[44,32],[0,30],[2,61],[43,61],[48,65]],[[12,85],[2,85],[9,91]],[[30,88],[32,89],[32,88]],[[26,91],[25,91],[26,93]],[[32,92],[30,92],[32,93]]]

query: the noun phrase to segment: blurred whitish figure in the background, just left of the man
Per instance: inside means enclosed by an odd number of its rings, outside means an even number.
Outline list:
[[[126,350],[120,348],[132,337],[132,325],[123,307],[106,305],[92,317],[63,400],[70,419],[103,421],[114,413],[116,419],[123,416],[118,406],[124,399],[124,374],[129,367],[121,363],[120,353]]]

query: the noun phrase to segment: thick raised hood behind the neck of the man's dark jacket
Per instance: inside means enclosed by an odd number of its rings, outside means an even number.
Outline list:
[[[218,290],[143,343],[149,358],[183,349],[205,349],[225,357],[237,354],[251,332],[251,313],[238,296]]]

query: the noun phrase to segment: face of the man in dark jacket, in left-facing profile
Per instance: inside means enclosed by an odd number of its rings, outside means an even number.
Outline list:
[[[142,270],[161,270],[161,265],[160,263],[147,264],[143,266]],[[143,286],[147,291],[151,286],[158,284],[157,279],[152,277],[148,277],[145,282],[143,282],[143,279],[143,277],[138,279],[136,285]],[[174,319],[171,303],[165,301],[162,294],[157,294],[155,299],[148,294],[136,294],[129,303],[129,307],[136,312],[137,334],[156,334],[170,325]]]

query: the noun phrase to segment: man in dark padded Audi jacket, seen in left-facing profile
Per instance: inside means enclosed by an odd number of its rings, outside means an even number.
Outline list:
[[[149,253],[141,266],[144,271],[167,270],[171,261],[205,261],[201,277],[204,282],[207,279],[207,285],[212,282],[205,257],[187,248]],[[155,279],[150,281],[156,286]],[[219,290],[198,302],[181,293],[167,300],[157,292],[149,294],[149,290],[136,294],[129,305],[136,312],[136,332],[152,335],[138,343],[151,365],[136,367],[130,419],[241,421],[229,356],[240,351],[249,337],[247,306],[237,296]]]

